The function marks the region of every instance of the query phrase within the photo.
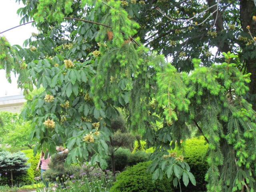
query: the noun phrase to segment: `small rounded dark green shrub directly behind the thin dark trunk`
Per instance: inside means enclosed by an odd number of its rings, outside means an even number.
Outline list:
[[[114,163],[115,163],[115,170],[116,171],[122,171],[124,170],[124,168],[128,165],[129,162],[129,158],[131,156],[131,151],[129,149],[124,149],[124,148],[118,148],[118,150],[116,150],[114,152]],[[111,158],[107,157],[106,159],[107,163],[108,163],[108,168],[109,170],[112,169],[112,162],[111,162]]]

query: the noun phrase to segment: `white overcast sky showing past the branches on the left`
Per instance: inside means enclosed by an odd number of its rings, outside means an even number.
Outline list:
[[[20,24],[20,17],[16,14],[18,8],[24,7],[21,3],[15,3],[15,0],[0,0],[0,32]],[[31,24],[12,29],[0,34],[6,36],[11,45],[18,44],[22,46],[24,40],[30,38],[32,32],[37,32]],[[5,77],[5,71],[0,70],[0,97],[18,95],[21,90],[17,88],[17,80],[12,74],[12,84],[8,83]],[[6,95],[6,92],[7,95]]]

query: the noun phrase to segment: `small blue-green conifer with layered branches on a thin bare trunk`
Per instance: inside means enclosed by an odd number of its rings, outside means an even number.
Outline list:
[[[13,154],[7,151],[0,152],[0,172],[10,172],[12,186],[12,173],[24,173],[30,168],[30,163],[27,164],[27,160],[25,154],[20,151]]]

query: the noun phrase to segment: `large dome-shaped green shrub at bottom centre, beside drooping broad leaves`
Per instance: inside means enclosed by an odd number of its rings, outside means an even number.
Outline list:
[[[120,173],[110,192],[172,192],[171,182],[166,176],[152,183],[152,174],[146,173],[150,163],[142,162]]]

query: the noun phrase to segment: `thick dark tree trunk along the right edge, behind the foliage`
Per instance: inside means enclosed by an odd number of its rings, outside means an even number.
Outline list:
[[[250,26],[252,36],[256,36],[256,21],[252,20],[255,4],[252,0],[240,0],[240,21],[244,32],[248,32],[247,26]],[[256,51],[256,50],[254,50]],[[249,84],[250,94],[256,94],[256,59],[246,58],[247,72],[251,73],[251,82]],[[256,110],[256,98],[252,102],[252,108]]]

